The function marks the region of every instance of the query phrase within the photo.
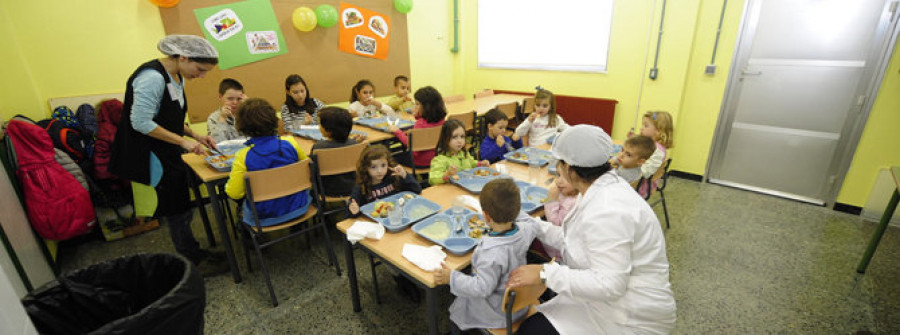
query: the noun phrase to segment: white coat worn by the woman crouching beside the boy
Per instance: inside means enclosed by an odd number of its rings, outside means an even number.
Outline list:
[[[538,238],[563,252],[545,265],[559,295],[539,310],[560,334],[666,334],[675,326],[666,242],[656,214],[615,172],[579,195],[562,227]]]

